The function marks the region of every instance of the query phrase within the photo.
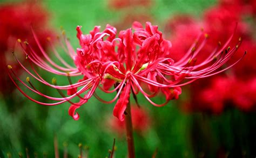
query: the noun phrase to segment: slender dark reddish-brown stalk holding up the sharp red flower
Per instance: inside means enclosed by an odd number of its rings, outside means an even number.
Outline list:
[[[132,115],[131,115],[130,100],[126,106],[125,112],[126,112],[125,127],[126,127],[126,141],[127,141],[127,148],[128,148],[128,157],[133,158],[133,157],[135,157],[135,150],[134,150],[134,141],[133,141],[133,128],[132,128]]]

